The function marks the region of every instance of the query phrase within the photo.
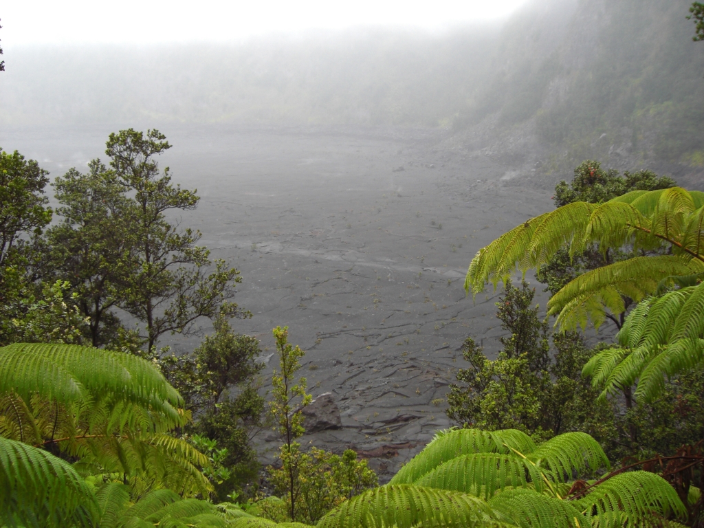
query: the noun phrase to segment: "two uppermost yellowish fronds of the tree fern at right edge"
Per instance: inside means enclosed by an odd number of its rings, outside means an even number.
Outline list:
[[[661,279],[668,275],[704,272],[704,208],[701,196],[695,191],[679,187],[659,191],[634,191],[601,206],[586,202],[570,203],[551,213],[532,218],[496,241],[479,250],[467,270],[465,289],[474,294],[484,284],[506,277],[518,267],[523,272],[535,268],[551,258],[561,246],[571,244],[571,253],[584,249],[586,244],[598,243],[601,251],[635,244],[643,249],[663,245],[672,247],[674,257],[665,260],[643,260],[600,268],[597,274],[577,277],[575,284],[567,284],[551,301],[553,312],[563,310],[577,296],[591,291],[622,284],[622,288],[642,298],[654,293]],[[681,256],[683,260],[677,260]],[[629,272],[630,265],[639,265],[637,272]],[[672,270],[669,272],[668,270]],[[639,280],[638,280],[639,279]],[[641,287],[641,285],[643,285]],[[639,288],[640,287],[640,288]],[[603,301],[604,299],[602,299]],[[563,319],[570,320],[563,316]]]

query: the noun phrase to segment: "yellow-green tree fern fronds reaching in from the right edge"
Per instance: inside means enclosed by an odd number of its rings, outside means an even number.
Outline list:
[[[560,247],[570,254],[587,244],[636,250],[667,249],[670,254],[637,256],[579,275],[548,301],[561,329],[599,327],[626,310],[624,298],[642,303],[620,334],[625,350],[604,351],[584,369],[605,393],[638,380],[636,398],[653,398],[674,375],[702,360],[704,348],[704,193],[671,187],[632,191],[600,206],[575,202],[502,235],[479,250],[467,270],[465,289],[473,294],[487,282],[505,281],[516,266],[546,263]],[[679,291],[666,293],[667,288]],[[659,301],[648,298],[664,295]]]

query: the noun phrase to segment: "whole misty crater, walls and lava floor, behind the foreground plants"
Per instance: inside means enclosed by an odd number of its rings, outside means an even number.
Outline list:
[[[56,177],[104,158],[110,132],[164,132],[161,165],[201,196],[182,225],[244,277],[236,300],[254,317],[237,331],[271,348],[289,325],[314,394],[339,401],[343,429],[315,445],[376,448],[372,429],[422,444],[448,425],[432,402],[463,339],[500,348],[496,294],[462,287],[482,246],[551,209],[585,159],[703,188],[689,4],[528,1],[451,27],[235,43],[13,45],[3,29],[0,147]]]

